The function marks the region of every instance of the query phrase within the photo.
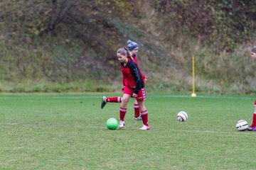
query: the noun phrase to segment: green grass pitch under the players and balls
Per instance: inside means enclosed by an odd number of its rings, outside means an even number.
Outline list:
[[[0,169],[256,169],[256,132],[235,130],[251,123],[254,96],[148,94],[149,131],[133,99],[124,129],[107,130],[119,104],[102,110],[102,96],[1,94]]]

